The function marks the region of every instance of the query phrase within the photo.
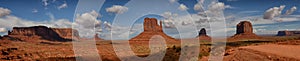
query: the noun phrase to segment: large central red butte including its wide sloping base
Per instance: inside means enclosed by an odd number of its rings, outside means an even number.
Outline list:
[[[144,19],[144,31],[140,33],[138,36],[131,38],[129,41],[134,43],[149,43],[149,40],[152,36],[160,35],[162,36],[166,43],[177,43],[175,38],[172,38],[165,34],[162,29],[162,22],[160,21],[160,25],[157,24],[156,18],[145,18]]]

